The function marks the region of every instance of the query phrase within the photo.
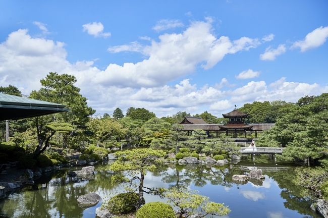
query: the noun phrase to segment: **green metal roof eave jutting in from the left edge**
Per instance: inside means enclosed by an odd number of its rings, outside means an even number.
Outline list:
[[[0,121],[67,112],[64,104],[0,93]]]

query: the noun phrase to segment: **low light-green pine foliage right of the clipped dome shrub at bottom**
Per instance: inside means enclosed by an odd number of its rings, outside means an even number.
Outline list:
[[[180,217],[189,211],[191,214],[199,214],[199,217],[211,215],[227,215],[231,210],[221,203],[209,201],[208,197],[198,194],[196,191],[190,191],[186,188],[172,188],[165,194],[169,202],[180,208]]]

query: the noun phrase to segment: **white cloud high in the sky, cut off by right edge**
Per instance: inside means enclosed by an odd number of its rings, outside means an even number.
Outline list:
[[[316,48],[322,45],[328,37],[328,26],[319,27],[308,33],[305,39],[294,42],[291,48],[299,47],[304,52],[311,48]]]

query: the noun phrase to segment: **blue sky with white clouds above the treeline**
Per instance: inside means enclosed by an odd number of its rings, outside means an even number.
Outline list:
[[[96,114],[222,117],[328,92],[328,1],[0,0],[0,86],[70,74]]]

